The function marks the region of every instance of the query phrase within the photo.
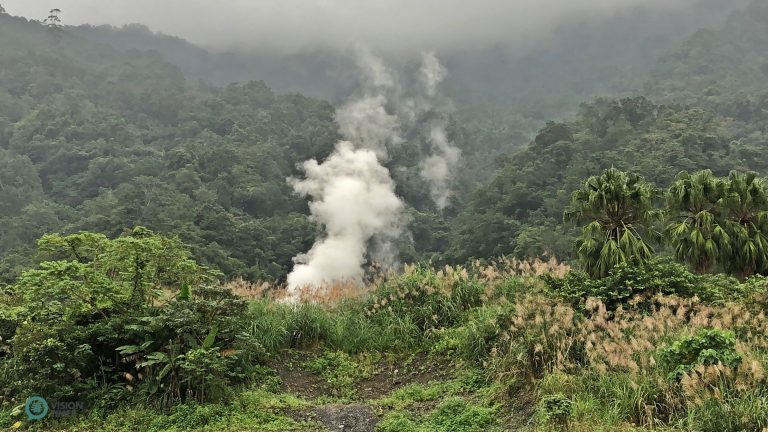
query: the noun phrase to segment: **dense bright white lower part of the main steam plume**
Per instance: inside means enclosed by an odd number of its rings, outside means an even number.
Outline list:
[[[291,184],[312,198],[312,217],[323,224],[326,237],[295,259],[288,275],[293,296],[329,282],[360,281],[366,244],[380,233],[399,232],[403,209],[389,171],[371,150],[343,141],[325,162],[310,160],[302,169],[306,178]]]

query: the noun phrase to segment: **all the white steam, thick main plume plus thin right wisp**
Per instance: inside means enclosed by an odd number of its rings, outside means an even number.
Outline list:
[[[304,179],[288,179],[296,193],[310,198],[312,218],[325,229],[309,252],[294,258],[288,275],[294,298],[328,283],[361,282],[369,256],[385,265],[396,263],[393,243],[404,230],[404,203],[381,162],[389,159],[392,146],[404,142],[403,124],[427,128],[432,154],[420,164],[421,176],[437,207],[448,203],[450,173],[460,154],[448,140],[447,115],[437,99],[445,69],[434,54],[424,54],[420,90],[406,98],[379,58],[358,50],[357,59],[361,89],[336,112],[346,141],[324,162],[304,162]],[[419,124],[427,115],[430,119]]]

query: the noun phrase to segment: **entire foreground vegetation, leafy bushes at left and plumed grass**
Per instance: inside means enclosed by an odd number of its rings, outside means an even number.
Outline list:
[[[3,293],[6,425],[33,392],[91,408],[17,427],[768,426],[760,277],[696,276],[663,259],[591,281],[552,261],[415,266],[296,305],[268,286],[210,285],[178,242],[141,228],[47,236],[40,248],[52,261]]]

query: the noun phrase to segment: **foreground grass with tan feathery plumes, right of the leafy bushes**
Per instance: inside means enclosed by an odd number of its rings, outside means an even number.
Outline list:
[[[407,268],[299,304],[235,282],[242,330],[265,356],[218,401],[160,409],[137,398],[58,431],[768,430],[768,295],[717,301],[638,294],[574,302],[556,263]],[[714,282],[701,279],[702,290]],[[721,286],[723,284],[717,285]],[[747,288],[727,284],[728,292]]]

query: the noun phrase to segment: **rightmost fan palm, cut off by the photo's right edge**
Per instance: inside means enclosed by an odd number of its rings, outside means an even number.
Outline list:
[[[723,265],[748,277],[768,271],[768,183],[754,172],[731,172],[722,198],[731,250]]]

